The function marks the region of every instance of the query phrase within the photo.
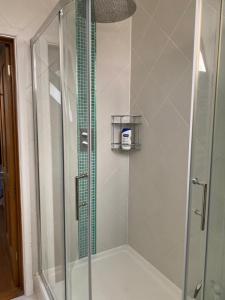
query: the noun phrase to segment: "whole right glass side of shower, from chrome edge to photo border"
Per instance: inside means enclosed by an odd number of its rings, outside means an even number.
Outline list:
[[[225,297],[224,21],[224,1],[198,1],[184,294],[205,300]]]

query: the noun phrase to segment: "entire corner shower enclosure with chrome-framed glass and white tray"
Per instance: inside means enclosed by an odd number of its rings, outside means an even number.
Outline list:
[[[186,2],[61,0],[32,39],[50,299],[224,299],[224,1]]]

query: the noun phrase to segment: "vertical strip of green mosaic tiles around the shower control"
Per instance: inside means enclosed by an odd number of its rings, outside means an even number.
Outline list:
[[[88,126],[87,76],[86,76],[86,20],[84,18],[85,1],[76,1],[76,49],[77,49],[77,122],[78,122],[78,172],[84,174],[88,170],[87,151],[81,151],[80,130]],[[92,24],[92,253],[96,253],[96,25]],[[80,203],[88,201],[88,182],[81,179],[79,183]],[[80,258],[88,254],[88,215],[87,207],[79,211],[79,253]]]

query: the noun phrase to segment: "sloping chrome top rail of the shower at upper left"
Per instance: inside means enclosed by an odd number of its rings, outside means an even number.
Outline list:
[[[60,10],[72,1],[74,1],[74,0],[60,0],[56,4],[56,6],[53,8],[52,12],[49,14],[47,19],[44,21],[44,23],[41,25],[41,27],[38,29],[36,34],[31,39],[31,45],[33,45],[39,39],[39,37],[42,35],[42,33],[48,28],[49,24],[59,14]]]

